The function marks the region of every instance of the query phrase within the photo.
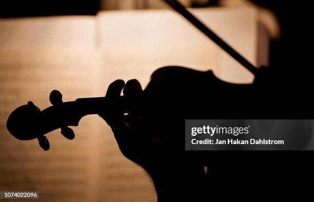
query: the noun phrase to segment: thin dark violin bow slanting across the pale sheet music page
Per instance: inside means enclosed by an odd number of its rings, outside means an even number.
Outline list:
[[[208,38],[210,38],[215,44],[226,51],[231,57],[237,60],[243,67],[249,70],[252,74],[257,75],[258,69],[252,65],[247,59],[245,59],[240,53],[235,51],[231,46],[223,41],[217,34],[206,27],[197,17],[190,13],[182,4],[176,0],[164,0],[168,5],[170,5],[174,10],[180,13],[184,18],[186,18],[192,25],[203,32]]]

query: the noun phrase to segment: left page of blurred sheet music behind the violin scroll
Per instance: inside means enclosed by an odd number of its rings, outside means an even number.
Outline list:
[[[1,50],[0,51],[0,189],[37,190],[45,201],[88,201],[96,176],[97,117],[81,121],[69,141],[53,131],[48,135],[51,149],[44,152],[37,139],[16,140],[6,130],[8,115],[19,105],[32,100],[38,107],[50,106],[49,93],[60,90],[64,101],[95,96],[97,54],[76,50]]]

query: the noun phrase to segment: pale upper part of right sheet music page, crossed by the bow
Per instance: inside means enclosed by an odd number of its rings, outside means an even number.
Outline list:
[[[252,64],[257,63],[256,10],[191,11]],[[96,24],[101,30],[99,46],[104,51],[103,62],[115,78],[140,76],[140,82],[145,86],[149,80],[146,75],[153,70],[178,65],[213,70],[221,79],[233,83],[252,82],[253,76],[238,62],[183,17],[169,10],[100,12]]]

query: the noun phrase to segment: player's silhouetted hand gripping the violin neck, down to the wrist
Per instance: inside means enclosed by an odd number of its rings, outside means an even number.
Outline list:
[[[127,115],[123,113],[121,106],[115,104],[122,90],[129,102],[130,109]],[[115,80],[106,93],[106,98],[111,100],[110,107],[99,115],[111,127],[123,155],[149,172],[152,167],[155,168],[156,160],[161,157],[158,151],[162,149],[162,144],[152,135],[153,132],[147,127],[146,121],[137,110],[138,100],[142,94],[143,89],[138,80],[132,79],[126,84],[123,80]],[[159,157],[157,158],[156,155]]]

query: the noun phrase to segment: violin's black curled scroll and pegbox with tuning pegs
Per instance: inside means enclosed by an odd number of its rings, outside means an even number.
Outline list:
[[[68,127],[68,123],[63,120],[64,114],[68,114],[66,109],[77,111],[77,105],[73,102],[63,103],[62,94],[53,90],[49,96],[50,103],[53,105],[44,111],[29,101],[27,105],[16,108],[8,117],[7,129],[19,140],[38,139],[39,145],[45,150],[49,150],[50,144],[46,133],[61,128],[61,134],[67,139],[74,139],[75,135],[72,129]],[[81,117],[85,115],[74,116],[70,124],[77,125]],[[67,117],[69,118],[69,117]],[[71,117],[69,118],[70,120]],[[74,124],[73,124],[74,123]]]

